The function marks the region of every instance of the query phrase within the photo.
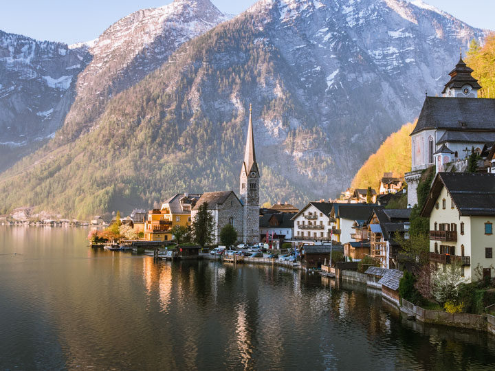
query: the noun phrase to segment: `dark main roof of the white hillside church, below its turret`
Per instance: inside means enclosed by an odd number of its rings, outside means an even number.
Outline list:
[[[495,99],[426,97],[410,135],[439,128],[495,133]]]

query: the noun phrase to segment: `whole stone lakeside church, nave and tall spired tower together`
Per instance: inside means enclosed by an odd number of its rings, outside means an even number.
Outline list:
[[[239,181],[239,197],[234,191],[206,192],[192,209],[195,218],[199,206],[208,203],[208,212],[214,220],[213,243],[220,243],[219,234],[223,226],[230,224],[237,232],[238,240],[243,243],[258,243],[259,234],[259,185],[260,172],[256,163],[254,150],[254,131],[252,124],[252,107],[248,124],[248,137],[241,164]]]

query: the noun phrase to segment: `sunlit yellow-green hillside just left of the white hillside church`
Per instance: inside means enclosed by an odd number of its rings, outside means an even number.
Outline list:
[[[399,131],[388,137],[360,168],[352,181],[352,186],[354,188],[371,186],[377,190],[384,172],[394,172],[397,176],[404,176],[404,173],[410,171],[409,134],[414,127],[415,124],[405,124]]]

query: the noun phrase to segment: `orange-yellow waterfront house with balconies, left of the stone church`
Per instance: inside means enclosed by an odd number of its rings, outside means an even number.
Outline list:
[[[192,207],[200,197],[201,194],[177,193],[166,200],[160,209],[150,210],[144,222],[144,238],[148,241],[173,240],[173,227],[190,225]]]

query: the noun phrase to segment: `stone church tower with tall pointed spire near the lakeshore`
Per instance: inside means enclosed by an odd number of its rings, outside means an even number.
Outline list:
[[[243,243],[258,243],[259,235],[259,169],[254,152],[254,133],[252,128],[252,107],[250,105],[250,121],[248,138],[241,167],[240,192],[243,203]]]

